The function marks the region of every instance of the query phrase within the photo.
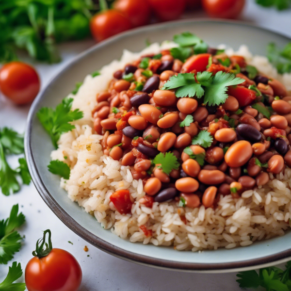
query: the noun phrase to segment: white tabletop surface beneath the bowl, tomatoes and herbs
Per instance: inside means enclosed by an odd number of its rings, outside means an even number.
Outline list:
[[[241,19],[291,37],[291,9],[277,12],[265,9],[248,0]],[[195,12],[194,16],[205,16]],[[259,41],[259,40],[258,40]],[[243,42],[243,40],[242,40]],[[38,70],[42,88],[57,74],[75,55],[89,48],[93,41],[84,41],[62,45],[60,50],[63,61],[56,65],[34,63]],[[30,60],[30,62],[32,62]],[[16,107],[0,97],[0,127],[8,126],[23,132],[29,106]],[[16,158],[9,162],[16,164]],[[11,207],[18,203],[26,216],[26,223],[19,230],[25,240],[19,253],[8,265],[0,265],[0,282],[14,260],[22,268],[32,258],[35,242],[42,236],[42,231],[51,229],[53,246],[71,252],[81,264],[83,280],[80,291],[239,291],[236,274],[192,274],[158,270],[115,258],[88,244],[65,226],[44,203],[34,185],[22,186],[21,191],[8,197],[0,194],[0,220],[8,217]],[[73,245],[68,243],[73,242]],[[88,252],[83,248],[87,245]],[[87,256],[89,255],[89,257]]]

